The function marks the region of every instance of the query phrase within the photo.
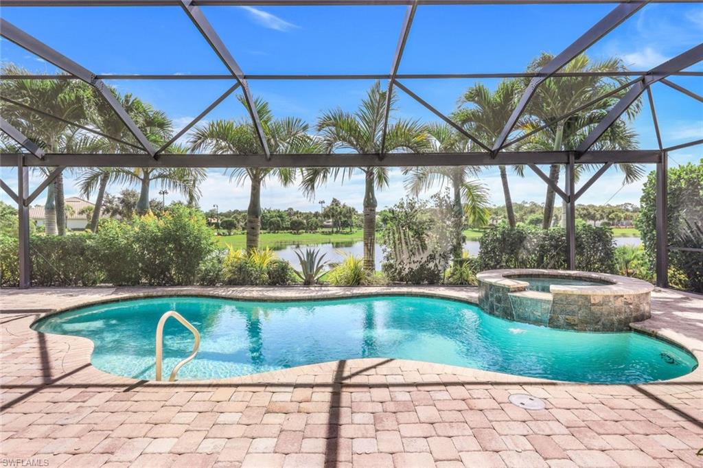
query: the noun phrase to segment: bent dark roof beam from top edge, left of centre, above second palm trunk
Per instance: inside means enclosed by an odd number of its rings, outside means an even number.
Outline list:
[[[200,7],[193,5],[193,0],[181,0],[181,7],[183,8],[183,11],[186,12],[186,15],[188,15],[188,18],[191,18],[193,25],[198,28],[198,31],[200,31],[200,34],[202,34],[202,37],[205,38],[214,53],[217,53],[217,56],[222,63],[224,63],[232,76],[235,77],[240,86],[242,86],[244,99],[247,103],[247,110],[249,110],[249,115],[252,117],[254,130],[257,132],[257,138],[259,138],[259,143],[262,145],[266,159],[270,160],[271,151],[269,151],[269,145],[266,143],[264,126],[262,126],[261,119],[259,118],[259,112],[257,111],[256,106],[254,106],[254,98],[252,98],[252,93],[249,90],[249,84],[244,77],[244,72],[239,67],[236,60],[234,60],[234,57],[229,52],[227,46],[224,45],[224,42],[222,42],[222,39],[220,39],[217,32],[215,32],[214,28],[205,17],[205,14],[202,13]]]

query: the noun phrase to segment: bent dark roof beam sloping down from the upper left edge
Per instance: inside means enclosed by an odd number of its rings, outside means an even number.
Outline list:
[[[139,127],[136,126],[131,117],[129,117],[127,111],[124,110],[122,105],[117,101],[117,98],[115,98],[115,95],[112,94],[112,91],[110,91],[105,82],[98,79],[96,74],[87,68],[82,67],[78,63],[75,63],[70,58],[67,58],[62,53],[47,46],[38,39],[32,37],[30,34],[20,30],[20,28],[16,27],[11,22],[4,20],[3,18],[0,18],[0,34],[2,37],[14,42],[18,46],[27,49],[27,51],[34,53],[47,62],[56,65],[61,70],[64,70],[65,72],[72,74],[75,77],[82,79],[87,84],[93,86],[93,88],[95,88],[98,93],[103,96],[105,102],[110,105],[110,108],[115,111],[115,114],[117,114],[117,117],[122,120],[122,123],[127,126],[127,129],[129,129],[131,134],[134,135],[134,138],[137,139],[139,144],[143,146],[144,150],[146,150],[146,152],[148,152],[151,156],[155,155],[156,150],[148,141],[146,136],[144,136]]]

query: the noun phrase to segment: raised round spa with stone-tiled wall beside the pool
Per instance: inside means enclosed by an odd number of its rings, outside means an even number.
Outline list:
[[[550,292],[527,290],[515,276],[607,282],[551,285]],[[492,270],[479,273],[479,305],[493,316],[516,322],[583,332],[622,332],[650,318],[650,283],[617,275],[560,270]]]

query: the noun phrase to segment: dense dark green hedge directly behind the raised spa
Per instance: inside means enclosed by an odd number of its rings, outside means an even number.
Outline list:
[[[567,241],[563,228],[498,226],[481,236],[479,270],[497,268],[567,268]],[[612,231],[576,224],[576,268],[615,273]]]

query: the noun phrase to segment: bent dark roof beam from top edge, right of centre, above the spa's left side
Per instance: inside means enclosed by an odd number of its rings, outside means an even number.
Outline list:
[[[496,138],[492,150],[494,156],[497,155],[498,151],[503,149],[505,146],[505,141],[508,140],[508,136],[515,127],[515,124],[517,124],[517,120],[520,119],[522,112],[524,112],[525,108],[527,108],[527,105],[537,90],[537,87],[550,76],[555,74],[555,72],[560,70],[561,67],[574,60],[574,58],[583,53],[583,51],[585,51],[588,47],[605,36],[605,34],[612,31],[621,22],[639,11],[639,9],[645,6],[645,4],[647,4],[647,1],[633,1],[631,3],[620,4],[614,8],[613,11],[605,15],[602,20],[595,23],[595,25],[579,37],[579,39],[576,39],[573,44],[565,48],[562,53],[550,60],[547,65],[542,67],[542,70],[540,70],[538,76],[530,80],[527,89],[525,89],[524,93],[522,93],[520,102],[517,103],[517,107],[512,111],[512,115],[510,115],[508,122],[505,122],[505,126],[503,126],[501,134],[498,135],[498,138]]]

